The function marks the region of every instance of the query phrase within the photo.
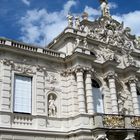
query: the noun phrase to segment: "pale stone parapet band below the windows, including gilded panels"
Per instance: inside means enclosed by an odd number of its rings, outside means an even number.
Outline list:
[[[4,113],[4,114],[3,114]],[[71,131],[75,128],[140,129],[140,117],[116,114],[81,114],[70,118],[51,118],[19,113],[0,114],[0,125],[10,128]]]

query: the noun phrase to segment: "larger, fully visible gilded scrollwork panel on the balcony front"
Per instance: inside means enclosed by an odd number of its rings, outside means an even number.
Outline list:
[[[122,116],[107,115],[104,116],[104,126],[111,128],[123,128],[124,118]]]

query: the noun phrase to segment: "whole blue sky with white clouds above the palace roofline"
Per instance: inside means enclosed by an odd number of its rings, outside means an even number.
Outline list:
[[[113,18],[140,36],[140,0],[108,0]],[[0,0],[0,36],[45,46],[66,26],[66,15],[100,16],[99,0]]]

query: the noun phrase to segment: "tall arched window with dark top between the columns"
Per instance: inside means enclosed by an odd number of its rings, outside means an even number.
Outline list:
[[[104,113],[103,94],[100,85],[92,80],[93,105],[95,113]]]

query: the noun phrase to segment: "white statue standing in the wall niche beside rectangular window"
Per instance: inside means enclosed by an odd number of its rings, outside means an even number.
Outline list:
[[[55,98],[54,98],[54,96],[52,94],[49,96],[48,103],[49,103],[49,106],[48,106],[49,116],[50,117],[56,116]]]

